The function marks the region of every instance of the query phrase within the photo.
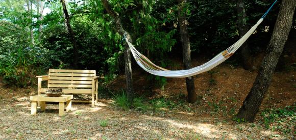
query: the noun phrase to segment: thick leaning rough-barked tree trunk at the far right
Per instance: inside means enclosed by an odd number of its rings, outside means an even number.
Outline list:
[[[295,6],[296,1],[282,1],[274,32],[266,50],[266,56],[262,61],[259,73],[250,93],[246,96],[238,111],[237,118],[244,119],[248,122],[253,122],[255,120],[256,114],[269,87],[270,81],[272,80],[272,75],[288,38]]]

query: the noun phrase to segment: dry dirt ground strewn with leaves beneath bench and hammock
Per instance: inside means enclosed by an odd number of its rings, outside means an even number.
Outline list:
[[[196,93],[201,101],[188,104],[185,79],[168,78],[161,89],[152,86],[144,72],[135,71],[134,88],[138,94],[145,93],[150,99],[165,97],[176,104],[180,100],[185,102],[174,109],[144,113],[124,111],[112,105],[112,100],[101,99],[95,107],[73,104],[63,117],[58,117],[58,104],[46,104],[45,112],[38,108],[33,116],[29,96],[37,92],[36,88],[0,87],[0,139],[294,139],[294,128],[290,133],[264,128],[260,113],[265,108],[295,103],[295,71],[274,74],[254,123],[232,120],[256,74],[223,64],[212,72],[195,76]],[[125,77],[120,75],[108,87],[116,91],[124,83]]]

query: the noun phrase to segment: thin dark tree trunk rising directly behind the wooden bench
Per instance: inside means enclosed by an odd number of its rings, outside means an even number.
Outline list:
[[[63,11],[65,14],[67,29],[70,34],[71,41],[73,43],[73,54],[74,54],[74,56],[73,56],[74,62],[73,63],[74,63],[75,69],[77,69],[78,68],[78,45],[77,45],[77,41],[75,39],[75,33],[73,32],[71,24],[70,24],[70,16],[69,16],[67,8],[66,8],[65,0],[61,0],[61,3],[62,3]]]

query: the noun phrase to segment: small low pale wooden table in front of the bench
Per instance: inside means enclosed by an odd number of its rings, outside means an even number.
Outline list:
[[[60,97],[48,97],[45,94],[30,96],[31,104],[31,114],[36,115],[37,111],[37,101],[40,101],[41,111],[45,111],[46,102],[59,102],[59,116],[64,115],[64,106],[66,102],[66,111],[70,110],[72,107],[73,95],[61,95]]]

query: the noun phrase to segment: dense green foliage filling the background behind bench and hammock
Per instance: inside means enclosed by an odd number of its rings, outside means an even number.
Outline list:
[[[33,7],[36,1],[32,1]],[[137,49],[155,64],[170,68],[169,56],[179,58],[180,38],[178,34],[177,1],[109,1],[111,8],[119,13],[122,26],[128,31]],[[253,25],[268,8],[270,1],[246,2],[245,19]],[[61,3],[45,1],[51,10],[42,21],[36,9],[27,10],[27,1],[0,1],[0,75],[8,85],[27,86],[30,77],[48,68],[72,68],[73,47],[65,26]],[[124,71],[123,50],[125,43],[116,31],[114,19],[106,14],[102,2],[69,1],[67,9],[70,24],[76,34],[80,69],[95,69],[112,81]],[[252,35],[249,43],[252,50],[259,51],[269,39],[278,6]],[[234,1],[187,1],[181,14],[186,14],[190,33],[191,51],[215,54],[238,39],[236,3]],[[39,24],[43,25],[41,39]],[[265,26],[270,26],[268,32]],[[29,29],[33,29],[35,45],[30,42]],[[176,47],[174,47],[176,46]],[[257,48],[257,49],[256,49]],[[238,64],[238,63],[236,63]],[[157,86],[164,88],[165,77],[147,76]],[[18,83],[21,82],[21,83]],[[215,85],[215,79],[209,80]]]

